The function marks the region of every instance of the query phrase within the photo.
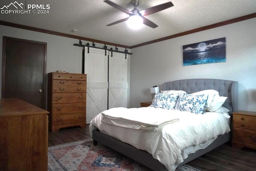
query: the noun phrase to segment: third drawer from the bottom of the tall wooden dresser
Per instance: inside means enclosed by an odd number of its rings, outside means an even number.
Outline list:
[[[53,93],[52,103],[85,103],[86,93]]]

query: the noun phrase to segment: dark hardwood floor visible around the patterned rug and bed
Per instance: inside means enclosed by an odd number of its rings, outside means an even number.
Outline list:
[[[85,128],[74,127],[49,132],[48,146],[83,139],[90,139],[89,125]],[[187,164],[201,171],[254,171],[256,170],[256,150],[235,149],[226,143]]]

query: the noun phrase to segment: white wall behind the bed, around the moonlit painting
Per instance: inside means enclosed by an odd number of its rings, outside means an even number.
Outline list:
[[[134,48],[130,107],[152,101],[150,87],[190,78],[238,81],[238,109],[256,111],[256,18]],[[226,37],[226,62],[182,66],[182,46]]]

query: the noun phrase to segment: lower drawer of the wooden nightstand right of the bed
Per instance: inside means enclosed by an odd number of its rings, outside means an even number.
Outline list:
[[[245,143],[256,144],[256,131],[233,127],[233,139]]]

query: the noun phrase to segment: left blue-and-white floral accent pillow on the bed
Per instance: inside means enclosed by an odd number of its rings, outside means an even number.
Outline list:
[[[178,93],[174,94],[163,94],[156,93],[152,101],[151,107],[163,108],[163,109],[174,109],[175,103],[178,99]]]

